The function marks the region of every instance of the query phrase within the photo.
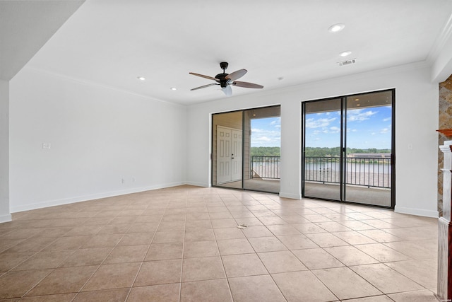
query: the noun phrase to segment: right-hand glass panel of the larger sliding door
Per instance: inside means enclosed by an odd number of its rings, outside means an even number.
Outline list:
[[[344,200],[391,207],[393,91],[345,98]]]

